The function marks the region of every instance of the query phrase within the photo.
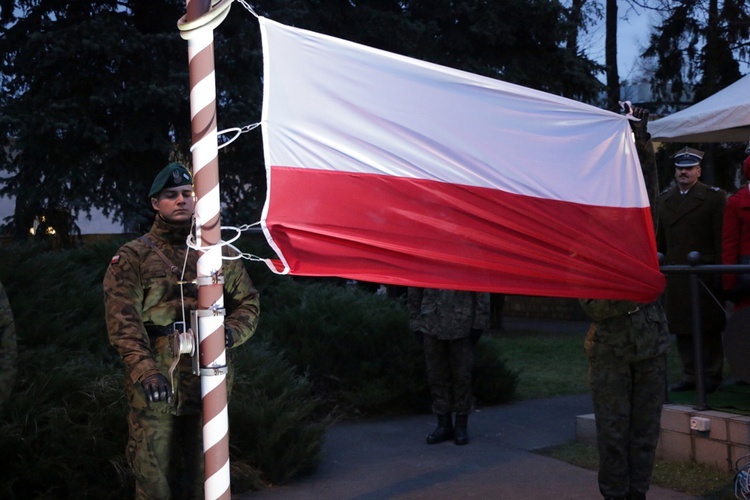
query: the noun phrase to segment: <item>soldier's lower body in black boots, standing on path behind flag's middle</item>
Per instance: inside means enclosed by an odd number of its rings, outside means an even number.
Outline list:
[[[427,444],[469,442],[474,343],[489,327],[490,294],[409,288],[409,328],[421,339],[427,363],[432,412],[438,425]],[[452,414],[456,414],[455,425]]]

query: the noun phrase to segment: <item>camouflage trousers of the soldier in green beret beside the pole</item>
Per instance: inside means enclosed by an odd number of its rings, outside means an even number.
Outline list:
[[[157,403],[164,404],[164,403]],[[125,456],[136,499],[203,498],[203,420],[131,408]]]

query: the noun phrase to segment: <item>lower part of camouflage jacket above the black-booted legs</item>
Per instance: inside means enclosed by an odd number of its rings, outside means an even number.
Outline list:
[[[443,340],[468,337],[490,326],[490,294],[409,288],[409,329]]]

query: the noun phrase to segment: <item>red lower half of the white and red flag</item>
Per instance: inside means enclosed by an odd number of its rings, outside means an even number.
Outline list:
[[[289,167],[270,183],[264,223],[293,275],[644,302],[664,288],[648,208]]]

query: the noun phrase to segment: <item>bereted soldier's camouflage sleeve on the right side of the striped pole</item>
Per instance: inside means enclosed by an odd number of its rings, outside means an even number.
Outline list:
[[[237,347],[252,337],[258,328],[260,295],[240,260],[225,260],[222,265],[227,310],[224,323],[232,332],[232,347]]]

